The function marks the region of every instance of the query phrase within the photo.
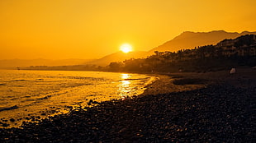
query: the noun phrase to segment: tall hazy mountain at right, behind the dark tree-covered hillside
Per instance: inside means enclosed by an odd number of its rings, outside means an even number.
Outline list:
[[[226,32],[224,30],[213,30],[211,32],[183,32],[172,40],[153,48],[149,53],[154,51],[178,51],[179,49],[195,48],[197,46],[204,46],[208,44],[217,44],[223,39],[235,39],[241,35],[256,35],[256,32],[244,31],[242,33]]]

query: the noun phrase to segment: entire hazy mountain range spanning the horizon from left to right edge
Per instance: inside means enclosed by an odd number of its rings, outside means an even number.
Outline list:
[[[27,67],[27,66],[68,66],[78,64],[94,64],[98,66],[107,66],[110,62],[122,62],[130,58],[146,58],[149,55],[154,54],[154,51],[178,51],[180,49],[195,48],[198,46],[204,46],[209,44],[217,44],[223,39],[235,39],[241,35],[256,35],[256,32],[244,31],[238,32],[226,32],[225,30],[213,30],[210,32],[192,32],[186,31],[181,35],[152,48],[149,51],[134,51],[130,53],[111,53],[103,58],[96,60],[84,60],[84,59],[66,59],[66,60],[0,60],[0,68],[7,67]]]

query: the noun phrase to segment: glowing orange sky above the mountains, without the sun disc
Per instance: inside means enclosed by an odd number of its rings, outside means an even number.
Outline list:
[[[149,51],[183,31],[255,31],[255,16],[255,0],[0,0],[0,59]]]

